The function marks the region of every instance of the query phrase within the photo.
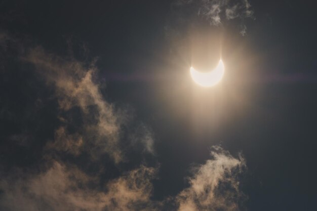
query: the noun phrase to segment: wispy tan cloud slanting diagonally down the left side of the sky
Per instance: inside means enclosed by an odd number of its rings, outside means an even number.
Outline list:
[[[120,112],[103,99],[98,85],[93,81],[96,67],[93,64],[85,67],[76,60],[64,60],[42,48],[31,49],[24,59],[36,67],[49,85],[55,87],[61,110],[80,108],[78,115],[83,121],[80,135],[85,136],[85,144],[91,144],[91,156],[106,152],[115,162],[122,161],[118,141],[123,119]]]

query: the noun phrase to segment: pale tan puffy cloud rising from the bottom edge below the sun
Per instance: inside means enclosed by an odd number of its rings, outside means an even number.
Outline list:
[[[239,210],[239,175],[245,161],[233,158],[228,152],[216,147],[214,159],[196,167],[190,177],[190,186],[177,196],[179,211],[186,210]]]

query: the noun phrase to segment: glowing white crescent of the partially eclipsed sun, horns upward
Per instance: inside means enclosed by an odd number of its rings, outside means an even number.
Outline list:
[[[193,67],[190,67],[191,78],[197,85],[202,87],[211,87],[216,85],[224,74],[224,65],[222,60],[219,60],[218,66],[210,72],[199,72]]]

